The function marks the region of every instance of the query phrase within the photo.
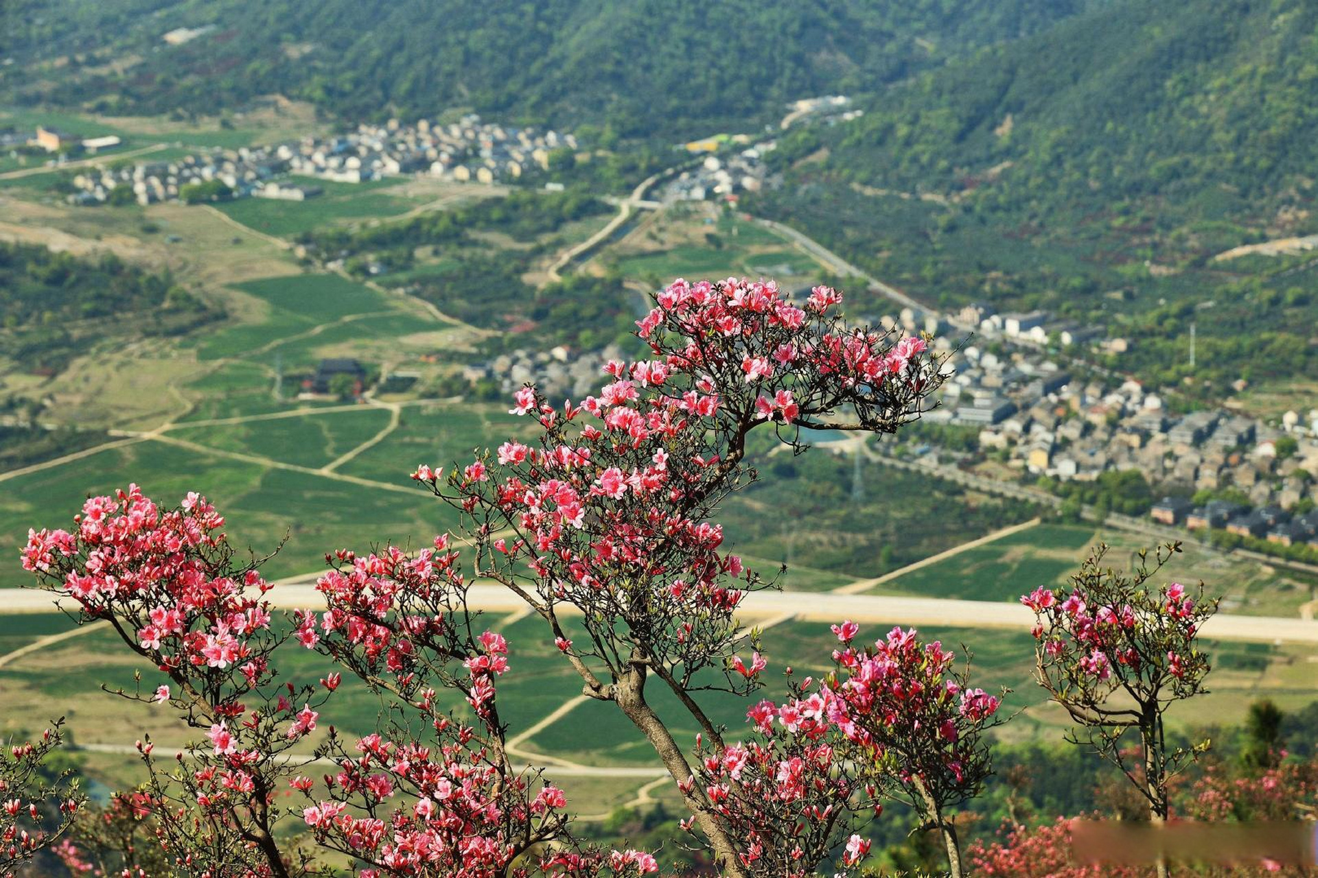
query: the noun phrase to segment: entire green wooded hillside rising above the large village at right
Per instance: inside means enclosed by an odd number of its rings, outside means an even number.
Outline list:
[[[1122,0],[783,138],[750,207],[945,307],[1106,325],[1112,361],[1205,392],[1318,366],[1306,257],[1215,261],[1318,230],[1318,8]],[[1199,390],[1195,383],[1189,390]]]

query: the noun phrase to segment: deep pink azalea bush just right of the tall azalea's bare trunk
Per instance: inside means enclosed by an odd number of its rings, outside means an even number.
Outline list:
[[[946,808],[991,773],[983,732],[998,724],[1000,698],[969,688],[952,652],[921,644],[913,629],[894,628],[863,648],[855,623],[833,632],[834,671],[793,686],[782,704],[759,702],[747,712],[754,736],[702,752],[691,781],[745,839],[749,874],[807,874],[896,790],[928,828],[950,833]],[[755,658],[751,673],[763,667]],[[948,842],[960,874],[954,835]],[[855,866],[869,846],[853,833],[841,866]]]

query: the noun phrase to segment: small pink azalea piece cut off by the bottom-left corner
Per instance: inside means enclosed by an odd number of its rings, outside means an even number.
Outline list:
[[[0,878],[16,875],[38,850],[54,845],[86,800],[76,782],[41,778],[46,757],[63,742],[62,725],[0,750]]]

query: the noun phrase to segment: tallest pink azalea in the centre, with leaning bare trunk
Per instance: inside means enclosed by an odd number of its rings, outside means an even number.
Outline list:
[[[555,407],[518,391],[511,413],[535,419],[536,442],[505,442],[447,475],[430,465],[413,474],[467,516],[473,575],[546,620],[585,695],[614,702],[679,782],[692,767],[648,706],[647,678],[716,749],[725,742],[691,695],[696,677],[718,673],[721,683],[700,687],[738,694],[758,684],[734,662],[735,613],[768,583],[721,552],[710,521],[754,478],[747,434],[767,425],[800,452],[804,428],[894,432],[941,380],[923,340],[846,326],[840,301],[826,287],[799,307],[772,283],[679,280],[638,323],[651,358],[610,362],[598,396]],[[584,619],[583,642],[563,629],[564,607]],[[701,785],[683,795],[722,867],[747,874],[718,804]]]

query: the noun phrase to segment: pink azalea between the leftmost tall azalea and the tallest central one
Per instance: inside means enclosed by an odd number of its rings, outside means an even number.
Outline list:
[[[369,864],[365,878],[493,878],[534,845],[567,841],[563,791],[505,753],[496,681],[509,669],[507,642],[473,633],[448,537],[415,554],[389,546],[330,561],[316,583],[327,609],[319,620],[301,613],[298,638],[399,699],[402,717],[351,748],[331,736],[320,754],[337,773],[324,791],[291,782],[308,799],[316,841]],[[474,723],[444,690],[461,695]]]

